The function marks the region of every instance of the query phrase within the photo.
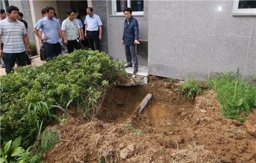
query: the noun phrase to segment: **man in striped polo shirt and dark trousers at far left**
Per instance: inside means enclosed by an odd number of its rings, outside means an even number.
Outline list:
[[[8,17],[0,21],[0,41],[4,43],[4,48],[0,50],[0,55],[5,59],[5,71],[9,74],[15,65],[16,59],[18,59],[20,66],[26,65],[27,54],[24,43],[27,52],[30,53],[31,49],[29,47],[26,27],[24,23],[17,20],[19,8],[9,6],[6,11]]]

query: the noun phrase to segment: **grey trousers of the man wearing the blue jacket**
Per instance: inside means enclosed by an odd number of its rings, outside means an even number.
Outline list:
[[[134,62],[134,69],[138,70],[139,64],[138,64],[138,58],[135,52],[135,45],[133,46],[124,46],[125,48],[125,56],[126,56],[126,61],[128,65],[132,65],[132,60]]]

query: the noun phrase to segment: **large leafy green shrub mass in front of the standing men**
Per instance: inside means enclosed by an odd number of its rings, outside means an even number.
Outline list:
[[[104,52],[77,50],[1,76],[1,143],[22,136],[27,148],[67,107],[80,108],[84,117],[86,110],[99,111],[108,86],[124,74],[124,64]]]

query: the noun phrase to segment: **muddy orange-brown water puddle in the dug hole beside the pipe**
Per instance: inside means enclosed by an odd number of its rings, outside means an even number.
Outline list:
[[[157,124],[163,124],[166,120],[172,118],[171,105],[154,102],[148,107],[154,122]]]

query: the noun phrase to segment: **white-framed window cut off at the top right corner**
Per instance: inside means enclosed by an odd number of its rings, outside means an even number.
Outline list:
[[[232,13],[256,15],[256,0],[234,0]]]

